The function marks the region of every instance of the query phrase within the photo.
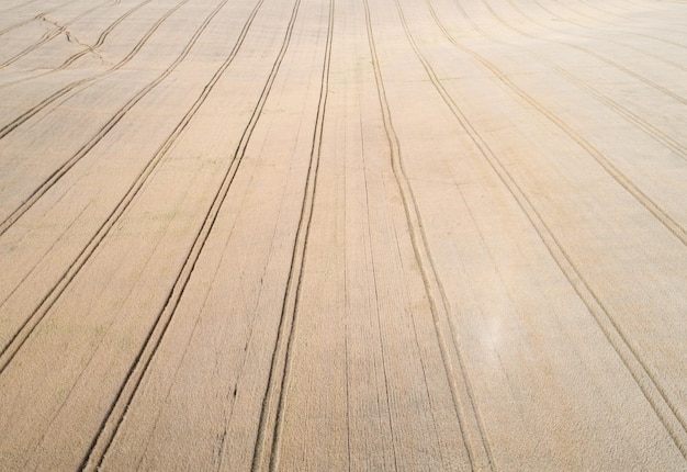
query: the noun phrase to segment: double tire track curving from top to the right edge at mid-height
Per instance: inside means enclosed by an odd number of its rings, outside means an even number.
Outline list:
[[[458,3],[458,2],[457,2]],[[429,3],[428,3],[429,4]],[[462,10],[462,9],[461,9]],[[654,202],[646,193],[640,190],[624,173],[620,171],[600,150],[598,150],[592,143],[586,141],[579,133],[577,133],[571,125],[565,123],[563,120],[558,117],[554,113],[549,111],[545,106],[543,106],[540,102],[534,100],[533,97],[525,92],[522,89],[517,87],[505,74],[503,74],[498,68],[496,68],[493,64],[487,61],[484,57],[478,55],[472,49],[469,49],[465,46],[459,44],[455,38],[453,38],[450,33],[446,30],[439,18],[436,15],[436,12],[430,7],[430,11],[437,22],[439,29],[443,32],[444,36],[460,50],[472,56],[480,64],[486,67],[492,74],[494,74],[506,87],[508,87],[511,91],[514,91],[518,97],[529,103],[534,110],[541,113],[544,117],[555,124],[561,131],[567,134],[579,147],[582,147],[589,156],[594,158],[598,162],[599,166],[610,176],[612,179],[618,182],[628,193],[630,193],[642,206],[644,206],[654,217],[668,229],[677,239],[679,239],[683,245],[687,246],[687,231],[677,221],[675,221],[671,215],[668,215],[656,202]],[[464,13],[464,10],[462,10]],[[470,21],[473,24],[472,21]],[[491,37],[487,33],[484,33],[478,29],[485,37],[498,42]],[[525,33],[522,33],[525,34]],[[563,44],[563,43],[560,43]]]

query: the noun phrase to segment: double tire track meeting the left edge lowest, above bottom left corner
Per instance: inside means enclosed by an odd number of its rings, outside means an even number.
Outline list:
[[[219,12],[219,10],[228,2],[228,0],[223,0],[221,3],[215,7],[215,9],[210,13],[205,21],[198,27],[195,34],[188,43],[184,48],[185,55],[191,50],[200,35],[205,31],[212,19]],[[261,2],[260,2],[261,4]],[[255,10],[257,13],[257,10]],[[234,46],[234,49],[229,54],[227,60],[222,65],[222,68],[215,72],[211,81],[205,86],[201,95],[196,99],[195,103],[187,111],[182,120],[177,124],[176,128],[172,133],[167,137],[165,143],[157,149],[154,154],[153,158],[148,161],[146,167],[140,171],[136,180],[132,183],[126,194],[120,200],[114,210],[110,213],[104,223],[100,226],[98,232],[91,237],[86,247],[81,250],[81,252],[75,258],[74,262],[67,268],[65,273],[60,277],[57,284],[53,286],[48,291],[48,293],[43,297],[38,306],[32,312],[32,314],[24,321],[20,329],[14,334],[14,336],[2,347],[0,350],[0,374],[7,369],[9,363],[12,361],[16,352],[24,345],[26,339],[31,336],[35,327],[43,321],[45,315],[48,313],[50,307],[57,302],[59,296],[64,293],[67,286],[71,283],[77,273],[81,270],[81,268],[86,265],[86,262],[90,259],[97,248],[100,246],[102,240],[108,236],[110,231],[114,227],[116,222],[120,220],[122,214],[126,211],[128,205],[138,194],[140,188],[145,184],[150,173],[155,170],[160,160],[167,155],[169,149],[172,147],[174,142],[179,138],[183,130],[188,126],[189,122],[193,119],[200,106],[203,104],[214,85],[219,80],[222,74],[229,66],[238,49],[243,45],[243,41],[248,32],[248,29],[252,22],[255,14],[251,13],[248,22],[244,26],[241,31],[241,36],[239,36],[238,42]],[[184,56],[184,54],[182,54]],[[181,56],[180,55],[180,58]],[[185,56],[184,56],[185,57]]]

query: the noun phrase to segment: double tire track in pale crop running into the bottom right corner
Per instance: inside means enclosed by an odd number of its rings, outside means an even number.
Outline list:
[[[395,0],[397,1],[397,0]],[[426,0],[430,13],[443,32],[447,40],[449,40],[457,47],[463,49],[463,46],[459,45],[455,40],[448,33],[439,18],[436,15],[433,8],[429,0]],[[409,33],[409,32],[408,32]],[[408,40],[414,43],[412,36]],[[619,323],[611,316],[608,308],[600,301],[598,295],[592,290],[589,283],[585,280],[579,269],[575,266],[573,258],[565,251],[561,243],[558,240],[551,228],[547,225],[541,214],[537,211],[531,203],[527,194],[522,191],[520,186],[510,176],[506,167],[500,162],[498,157],[491,149],[486,141],[480,135],[480,133],[472,126],[468,117],[458,106],[455,101],[443,88],[436,74],[431,69],[429,63],[424,58],[417,45],[414,45],[414,49],[420,61],[423,63],[430,80],[435,85],[437,91],[441,94],[443,101],[451,110],[458,122],[463,130],[471,137],[475,144],[480,154],[492,167],[499,180],[508,189],[509,193],[514,196],[527,218],[530,221],[532,227],[538,233],[540,239],[547,246],[549,254],[552,256],[563,274],[566,277],[582,302],[585,304],[595,322],[608,339],[611,347],[616,350],[619,358],[637,382],[638,386],[642,391],[644,397],[653,407],[656,416],[661,419],[666,428],[666,431],[671,436],[675,446],[679,449],[680,453],[687,459],[687,424],[680,416],[679,411],[675,403],[669,398],[666,390],[661,385],[658,379],[652,373],[647,363],[642,359],[639,353],[639,349],[632,345],[628,335],[621,329]],[[465,50],[469,50],[465,48]],[[500,80],[508,80],[500,71],[478,56],[476,53],[468,53],[476,60],[482,63],[492,72],[496,75]],[[514,91],[516,91],[514,89]],[[518,93],[519,94],[519,93]]]

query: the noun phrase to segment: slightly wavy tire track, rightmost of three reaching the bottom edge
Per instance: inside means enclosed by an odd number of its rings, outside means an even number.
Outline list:
[[[465,445],[472,469],[493,470],[495,467],[493,453],[486,439],[482,418],[480,417],[476,408],[472,384],[465,370],[465,362],[457,342],[459,336],[450,322],[450,305],[429,250],[429,243],[423,225],[419,206],[403,164],[401,144],[393,126],[382,70],[380,68],[376,47],[374,45],[374,34],[372,32],[372,24],[370,21],[369,3],[368,0],[363,0],[363,2],[365,8],[368,41],[370,44],[370,53],[372,55],[372,65],[374,68],[380,108],[391,150],[392,170],[403,201],[413,250],[423,276],[425,291],[430,304],[430,311],[435,322],[435,333],[441,351],[446,375],[449,385],[451,386],[455,415],[463,435],[463,442]],[[398,4],[396,4],[396,8],[398,9],[404,29],[406,29],[405,19]],[[446,339],[446,333],[450,333],[450,340],[448,341]]]

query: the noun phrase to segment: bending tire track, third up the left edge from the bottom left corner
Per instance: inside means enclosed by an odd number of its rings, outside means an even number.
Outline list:
[[[7,135],[12,133],[19,126],[21,126],[26,121],[29,121],[31,117],[35,116],[38,112],[44,110],[50,103],[55,102],[57,99],[59,99],[59,98],[66,95],[67,93],[76,90],[80,86],[101,80],[101,79],[105,78],[106,76],[109,76],[110,74],[112,74],[112,72],[121,69],[122,67],[124,67],[128,61],[131,61],[138,54],[138,52],[143,48],[143,46],[145,46],[145,44],[148,42],[148,40],[162,25],[162,23],[165,23],[167,21],[167,19],[169,19],[169,16],[171,16],[177,10],[179,10],[181,7],[183,7],[190,0],[181,0],[179,3],[177,3],[174,7],[172,7],[169,11],[167,11],[162,16],[160,16],[160,19],[157,22],[155,22],[155,24],[146,32],[146,34],[140,40],[138,40],[138,43],[136,43],[136,45],[132,48],[132,50],[129,50],[128,54],[122,60],[120,60],[117,64],[112,66],[109,70],[105,70],[104,72],[101,72],[101,74],[97,74],[97,75],[94,75],[92,77],[87,77],[87,78],[83,78],[83,79],[76,80],[76,81],[74,81],[74,82],[63,87],[61,89],[59,89],[55,93],[53,93],[49,97],[43,99],[41,102],[38,102],[34,106],[32,106],[29,110],[26,110],[24,113],[22,113],[21,115],[19,115],[14,120],[12,120],[7,125],[2,126],[0,128],[0,139],[3,139],[4,137],[7,137]],[[0,226],[0,228],[1,228],[1,226]],[[0,229],[0,235],[1,235],[1,233],[2,233],[2,229]]]

